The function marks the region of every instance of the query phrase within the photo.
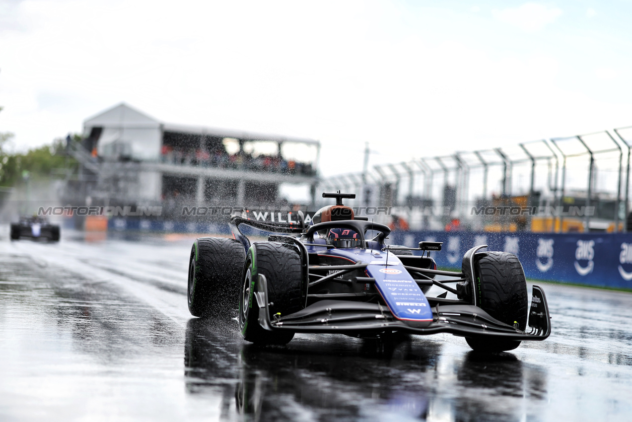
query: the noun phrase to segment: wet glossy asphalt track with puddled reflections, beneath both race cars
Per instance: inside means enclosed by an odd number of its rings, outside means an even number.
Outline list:
[[[257,349],[190,317],[188,240],[0,236],[1,421],[632,420],[629,293],[540,284],[553,334],[491,357],[447,334]]]

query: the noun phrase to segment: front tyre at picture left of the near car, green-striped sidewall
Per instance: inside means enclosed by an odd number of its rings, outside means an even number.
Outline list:
[[[305,307],[301,255],[294,246],[276,242],[253,243],[244,266],[239,304],[240,332],[255,344],[287,344],[294,332],[268,331],[258,322],[259,308],[254,294],[258,275],[267,281],[270,320]]]

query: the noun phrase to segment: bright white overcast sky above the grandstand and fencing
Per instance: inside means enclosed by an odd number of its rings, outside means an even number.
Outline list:
[[[0,0],[16,149],[125,101],[315,138],[325,176],[632,124],[632,2]]]

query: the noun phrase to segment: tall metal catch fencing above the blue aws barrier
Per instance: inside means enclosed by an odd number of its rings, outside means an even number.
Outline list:
[[[411,159],[412,153],[407,152],[403,162],[372,169],[366,165],[367,147],[363,172],[320,179],[319,191],[354,192],[356,199],[345,202],[351,207],[408,208],[399,217],[414,230],[443,229],[450,219],[458,219],[461,228],[483,230],[482,220],[470,214],[470,204],[499,205],[495,202],[502,199],[526,207],[596,206],[595,215],[583,215],[581,231],[607,226],[612,226],[609,231],[626,231],[631,151],[632,126],[437,157]],[[317,201],[317,205],[326,204],[326,200]],[[450,219],[411,211],[437,206],[447,208]],[[566,231],[562,220],[562,229],[545,231]]]

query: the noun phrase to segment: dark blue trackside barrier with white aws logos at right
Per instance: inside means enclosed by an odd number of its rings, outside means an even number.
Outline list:
[[[395,231],[392,244],[443,242],[431,256],[439,267],[461,268],[463,254],[487,244],[489,251],[518,255],[528,279],[632,289],[632,234]],[[483,250],[485,251],[485,250]]]

